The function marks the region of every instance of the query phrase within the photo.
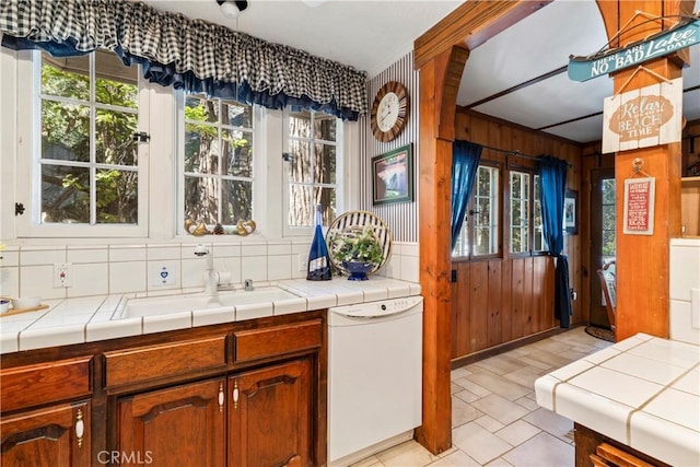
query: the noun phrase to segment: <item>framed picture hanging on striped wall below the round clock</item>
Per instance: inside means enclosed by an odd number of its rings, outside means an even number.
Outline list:
[[[413,200],[413,144],[372,157],[373,205]]]

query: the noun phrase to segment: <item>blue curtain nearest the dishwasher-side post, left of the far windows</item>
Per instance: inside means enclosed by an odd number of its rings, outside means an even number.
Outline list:
[[[452,248],[454,249],[467,212],[483,148],[469,141],[452,144]]]

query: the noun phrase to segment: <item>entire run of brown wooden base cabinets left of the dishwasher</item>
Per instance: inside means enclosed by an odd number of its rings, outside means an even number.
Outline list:
[[[2,466],[324,465],[325,318],[3,354]]]

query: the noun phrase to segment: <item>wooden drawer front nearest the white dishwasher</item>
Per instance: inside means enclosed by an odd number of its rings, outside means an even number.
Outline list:
[[[234,358],[236,362],[245,362],[313,349],[320,343],[320,319],[243,330],[234,332]]]

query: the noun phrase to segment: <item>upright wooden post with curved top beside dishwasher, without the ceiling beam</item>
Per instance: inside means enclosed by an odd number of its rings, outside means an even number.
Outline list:
[[[431,453],[452,446],[451,171],[455,109],[469,52],[451,47],[420,70],[420,283],[423,302],[423,424]]]

